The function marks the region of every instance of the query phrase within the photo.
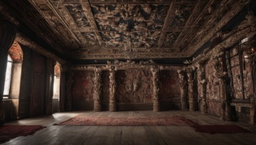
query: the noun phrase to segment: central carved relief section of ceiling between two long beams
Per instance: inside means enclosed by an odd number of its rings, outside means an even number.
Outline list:
[[[156,47],[168,5],[163,4],[92,4],[97,27],[106,47]],[[136,31],[136,32],[134,32]],[[131,38],[131,39],[130,39]],[[128,42],[130,41],[130,42]]]

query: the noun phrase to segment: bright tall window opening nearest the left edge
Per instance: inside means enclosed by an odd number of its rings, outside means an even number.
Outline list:
[[[4,82],[4,96],[3,99],[9,99],[10,95],[10,86],[12,80],[12,58],[8,55],[6,73],[5,73],[5,82]]]

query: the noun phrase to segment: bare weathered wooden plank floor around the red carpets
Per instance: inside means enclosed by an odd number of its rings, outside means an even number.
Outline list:
[[[139,117],[139,116],[184,116],[200,125],[232,124],[249,129],[248,134],[205,134],[195,132],[188,126],[144,126],[144,127],[106,127],[106,126],[64,126],[61,123],[79,114],[88,116]],[[125,111],[125,112],[72,112],[55,113],[13,121],[6,125],[44,125],[33,135],[17,137],[5,144],[256,144],[256,129],[245,123],[220,121],[198,112],[185,111]]]

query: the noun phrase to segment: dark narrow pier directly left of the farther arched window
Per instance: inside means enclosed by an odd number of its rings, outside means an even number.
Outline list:
[[[54,83],[54,60],[46,61],[45,114],[52,114],[52,97]]]

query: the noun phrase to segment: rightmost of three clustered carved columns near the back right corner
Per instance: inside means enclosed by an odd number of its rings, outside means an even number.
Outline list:
[[[198,74],[198,95],[200,98],[200,112],[202,114],[207,113],[207,102],[206,102],[206,79],[205,79],[205,68],[204,66],[198,64],[197,66]]]

